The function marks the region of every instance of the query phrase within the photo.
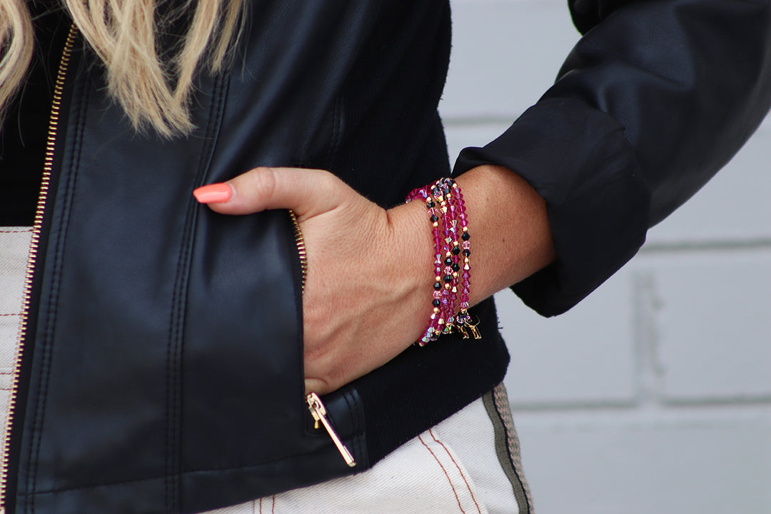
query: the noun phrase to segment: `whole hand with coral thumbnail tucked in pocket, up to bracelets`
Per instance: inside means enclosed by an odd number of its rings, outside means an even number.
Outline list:
[[[332,173],[298,168],[255,168],[196,196],[224,214],[295,211],[308,253],[306,391],[334,391],[423,334],[433,240],[419,202],[384,210]]]

